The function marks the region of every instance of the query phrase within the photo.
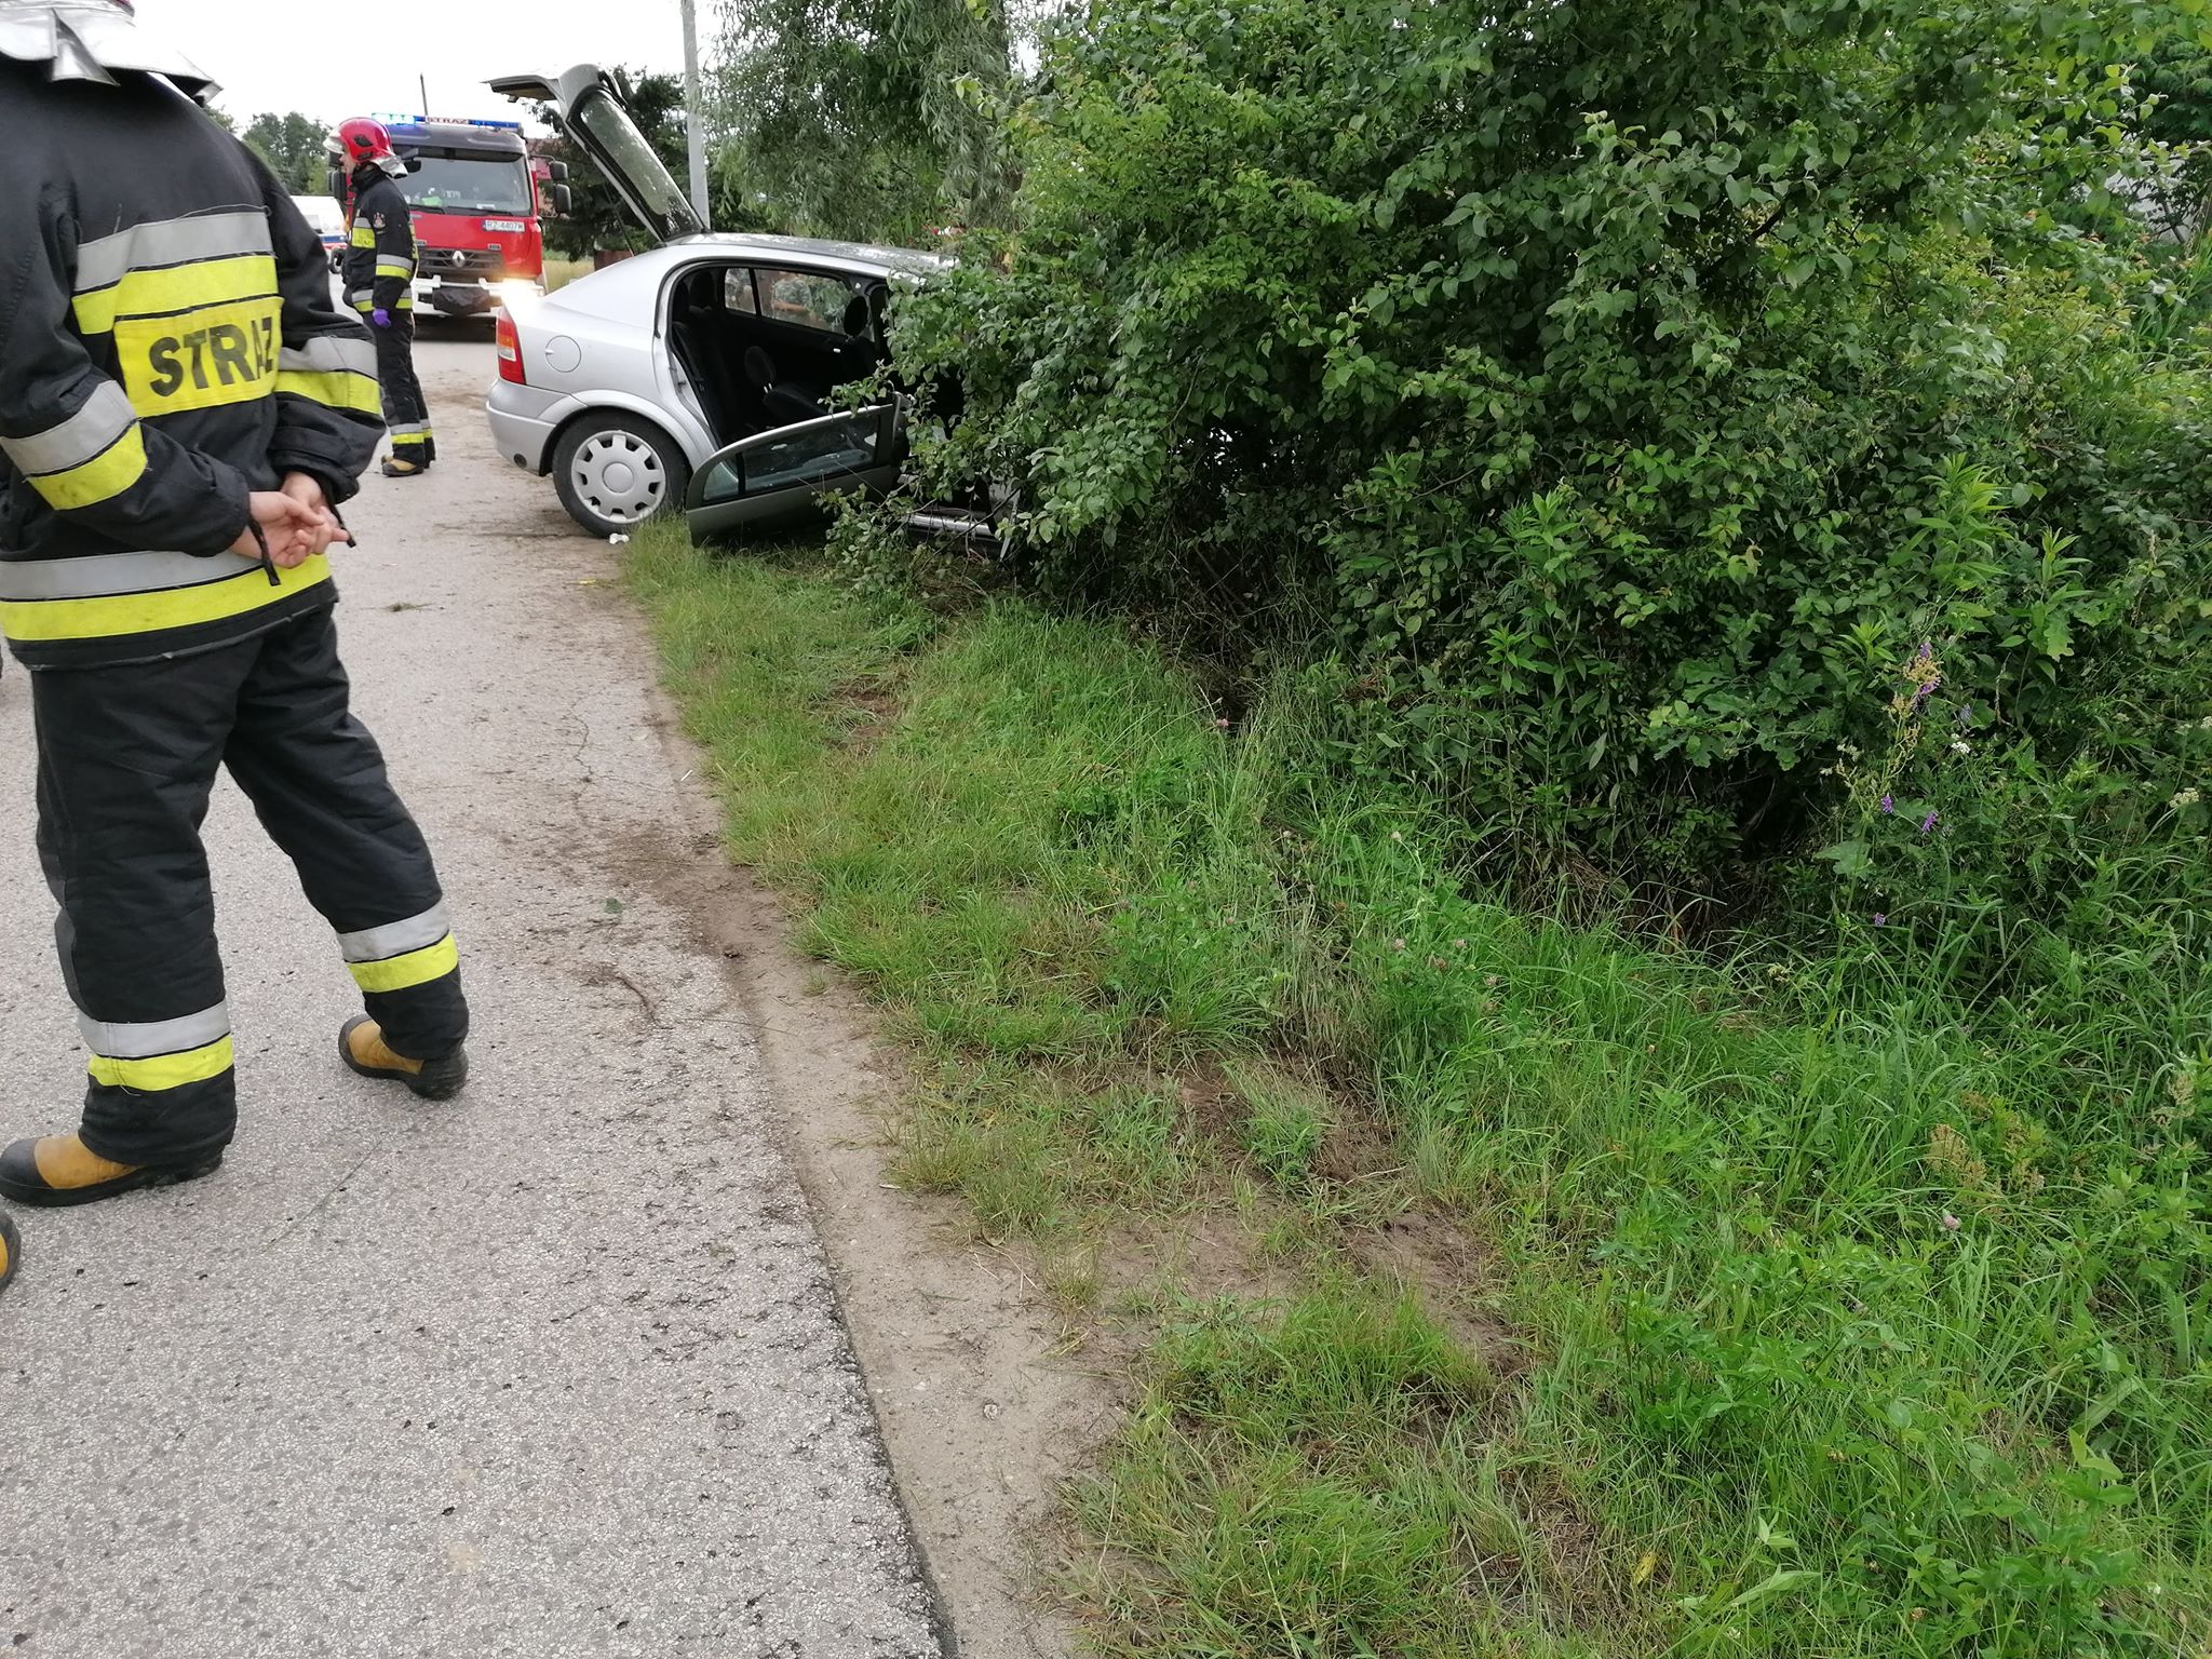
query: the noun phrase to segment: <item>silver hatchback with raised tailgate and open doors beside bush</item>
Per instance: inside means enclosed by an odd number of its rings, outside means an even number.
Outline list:
[[[905,460],[891,396],[834,405],[885,365],[894,285],[940,254],[796,237],[712,237],[593,64],[491,86],[560,108],[661,246],[498,316],[487,411],[500,453],[551,476],[595,535],[684,507],[699,533],[803,513],[827,491],[887,491]]]

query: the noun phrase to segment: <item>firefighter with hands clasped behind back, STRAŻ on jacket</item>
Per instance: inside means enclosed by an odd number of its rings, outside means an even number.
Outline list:
[[[467,1077],[445,896],[332,622],[376,352],[283,188],[181,91],[204,84],[122,0],[0,0],[0,633],[31,670],[38,847],[91,1051],[82,1126],[0,1152],[22,1203],[223,1157],[199,841],[219,768],[363,993],[345,1064],[436,1099]]]

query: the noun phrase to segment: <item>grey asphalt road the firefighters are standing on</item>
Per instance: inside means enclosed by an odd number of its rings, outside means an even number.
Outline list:
[[[938,1655],[752,1035],[648,891],[712,854],[613,551],[493,458],[487,332],[420,367],[442,458],[367,482],[338,617],[458,916],[476,1079],[434,1108],[336,1064],[352,984],[226,781],[243,1126],[208,1181],[18,1214],[0,1650]],[[0,1137],[73,1126],[84,1068],[31,776],[11,664]]]

